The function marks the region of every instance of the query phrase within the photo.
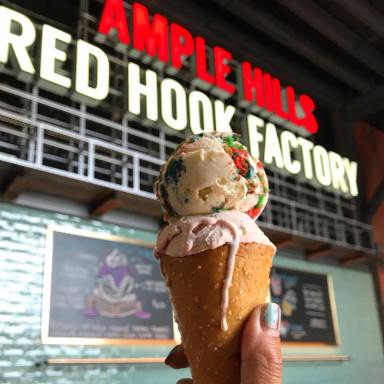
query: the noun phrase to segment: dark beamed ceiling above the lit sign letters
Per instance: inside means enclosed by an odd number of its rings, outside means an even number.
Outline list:
[[[2,2],[0,0],[0,2]],[[13,0],[76,28],[80,5]],[[384,127],[383,0],[142,0],[238,60],[248,59],[348,120]],[[383,110],[383,111],[382,111]]]

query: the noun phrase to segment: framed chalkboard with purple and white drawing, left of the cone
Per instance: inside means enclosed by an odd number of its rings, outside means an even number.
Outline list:
[[[175,328],[153,244],[50,228],[42,341],[166,344]]]

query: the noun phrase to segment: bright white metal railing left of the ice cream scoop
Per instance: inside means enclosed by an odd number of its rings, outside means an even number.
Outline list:
[[[34,152],[32,156],[28,156],[28,158],[33,159],[32,161],[17,158],[17,156],[13,154],[2,153],[1,149],[0,160],[20,164],[26,167],[40,169],[42,171],[54,174],[66,175],[68,177],[76,178],[78,180],[83,180],[94,184],[100,184],[103,186],[108,186],[112,189],[119,189],[124,192],[134,193],[137,195],[154,199],[153,193],[147,192],[141,188],[140,174],[148,174],[150,177],[153,177],[157,175],[158,172],[154,171],[151,168],[143,166],[142,162],[145,161],[146,163],[153,165],[155,169],[159,169],[161,164],[163,163],[163,160],[160,160],[150,155],[146,155],[145,153],[119,147],[115,144],[101,141],[99,139],[86,137],[76,132],[71,132],[45,123],[38,123],[28,117],[15,114],[14,112],[1,110],[0,116],[5,117],[6,119],[8,119],[8,121],[28,124],[29,128],[33,128],[35,130],[35,132],[32,132],[32,134],[30,133],[28,135],[29,140],[34,143],[34,145],[32,146],[28,146]],[[26,138],[25,134],[22,134],[17,130],[13,130],[12,128],[4,126],[4,124],[1,122],[0,132],[7,133],[8,135],[14,135],[18,138]],[[52,138],[47,138],[47,135],[54,135],[56,138],[60,138],[62,140],[72,140],[75,141],[77,145],[76,147],[71,148],[63,145],[58,141],[55,142],[54,140],[52,140]],[[75,165],[81,164],[81,161],[79,161],[80,158],[86,158],[87,161],[86,163],[82,162],[83,166],[77,166],[76,172],[70,170],[57,169],[56,167],[50,165],[49,161],[46,161],[48,157],[46,153],[47,146],[75,153],[78,158]],[[83,149],[80,150],[78,148]],[[123,170],[122,173],[125,176],[122,176],[122,183],[120,185],[117,185],[116,182],[108,182],[105,180],[100,180],[98,178],[97,166],[95,164],[96,160],[100,158],[100,156],[97,155],[98,149],[107,150],[111,153],[114,153],[115,155],[117,154],[122,159],[120,161],[120,168]],[[131,165],[129,165],[129,159],[132,160]],[[106,157],[104,157],[103,160],[105,162],[113,162],[113,159],[108,159]],[[130,169],[133,174],[131,186],[128,182],[128,169]]]

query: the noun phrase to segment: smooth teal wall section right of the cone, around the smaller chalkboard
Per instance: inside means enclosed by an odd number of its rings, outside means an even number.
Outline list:
[[[337,348],[285,348],[284,353],[337,354],[351,357],[351,361],[341,363],[286,363],[284,384],[383,382],[382,335],[371,274],[323,264],[309,264],[296,258],[284,257],[283,254],[277,255],[274,264],[331,274],[340,328],[341,345]]]

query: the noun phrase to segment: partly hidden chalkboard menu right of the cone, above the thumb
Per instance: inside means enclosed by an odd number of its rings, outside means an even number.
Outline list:
[[[283,342],[339,344],[330,276],[274,267],[271,299],[281,308]]]

